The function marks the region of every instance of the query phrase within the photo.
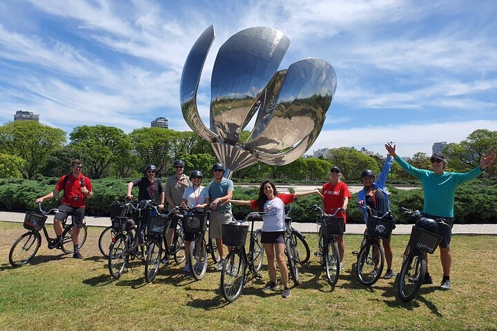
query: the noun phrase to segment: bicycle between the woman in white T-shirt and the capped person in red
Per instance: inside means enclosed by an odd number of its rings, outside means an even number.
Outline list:
[[[290,212],[291,212],[292,207],[290,206],[289,209],[286,211],[286,217],[285,217],[285,225],[286,225],[286,231],[284,234],[285,237],[285,254],[286,258],[288,259],[289,263],[289,270],[290,270],[290,275],[293,279],[293,283],[295,285],[300,284],[300,279],[299,279],[299,267],[300,268],[308,268],[308,265],[306,265],[306,261],[309,261],[309,256],[311,254],[309,250],[309,245],[307,245],[307,242],[305,240],[305,236],[300,233],[298,230],[295,230],[293,226],[291,225],[292,219],[290,217]],[[299,241],[302,243],[299,245]],[[300,260],[300,252],[299,248],[302,247],[305,250],[305,259],[304,261]]]

